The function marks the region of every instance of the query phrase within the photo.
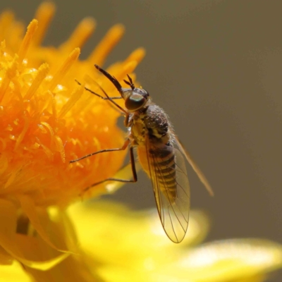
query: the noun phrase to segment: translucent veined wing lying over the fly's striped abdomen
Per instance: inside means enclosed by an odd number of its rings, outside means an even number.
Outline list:
[[[185,161],[178,149],[147,142],[149,176],[161,224],[168,238],[180,243],[187,231],[190,212],[190,185]]]

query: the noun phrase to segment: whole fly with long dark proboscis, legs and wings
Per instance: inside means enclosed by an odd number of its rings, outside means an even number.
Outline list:
[[[212,188],[202,171],[200,171],[200,168],[195,164],[195,161],[183,149],[174,135],[168,116],[166,116],[163,109],[152,102],[149,93],[142,88],[135,87],[129,75],[129,81],[124,81],[130,88],[123,88],[114,76],[97,65],[95,67],[115,85],[121,97],[109,97],[101,87],[106,97],[102,97],[87,88],[86,90],[102,99],[109,100],[125,114],[124,124],[128,128],[128,137],[121,148],[104,149],[88,154],[80,159],[85,159],[85,157],[102,152],[121,151],[130,147],[130,164],[133,171],[133,180],[107,178],[99,183],[94,183],[85,190],[108,180],[136,182],[137,173],[133,147],[137,147],[140,164],[152,180],[157,210],[164,231],[174,243],[180,243],[188,228],[190,212],[190,185],[183,155],[211,195],[213,195]],[[114,99],[124,99],[125,109],[116,104]],[[177,145],[179,150],[174,145]],[[79,161],[80,159],[75,159],[71,162]]]

